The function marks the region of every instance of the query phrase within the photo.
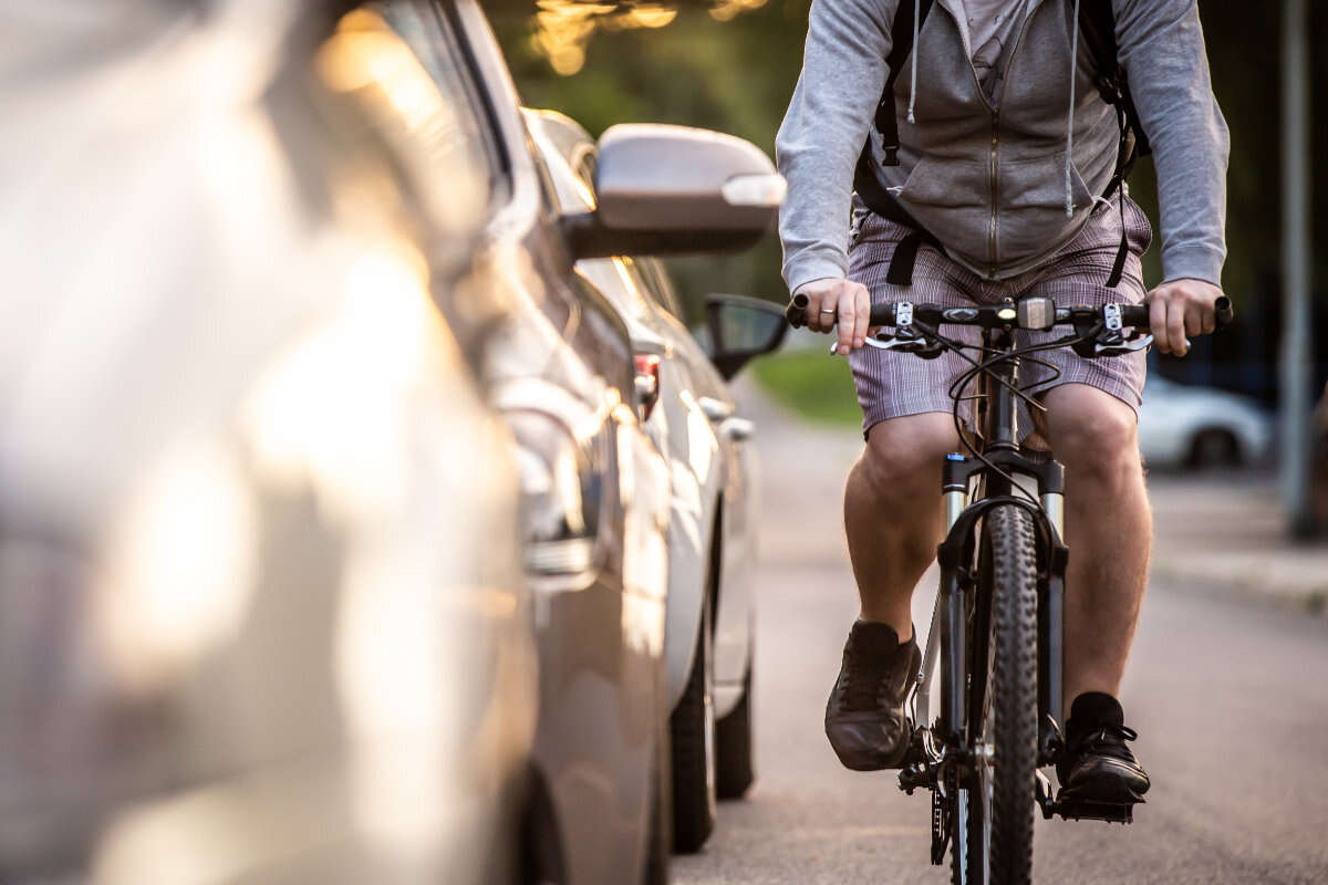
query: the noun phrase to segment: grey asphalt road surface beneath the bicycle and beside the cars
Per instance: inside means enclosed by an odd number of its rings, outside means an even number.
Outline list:
[[[841,768],[822,731],[857,612],[838,512],[859,443],[756,411],[758,780],[721,804],[701,854],[675,858],[675,878],[948,881],[928,864],[926,795]],[[930,605],[919,593],[919,626]],[[1328,882],[1328,621],[1155,580],[1122,695],[1149,801],[1130,827],[1038,820],[1035,881]]]

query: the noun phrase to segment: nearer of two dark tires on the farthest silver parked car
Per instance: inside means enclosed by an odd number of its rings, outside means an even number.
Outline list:
[[[683,699],[669,718],[673,744],[673,851],[691,854],[714,829],[714,653],[709,593]]]

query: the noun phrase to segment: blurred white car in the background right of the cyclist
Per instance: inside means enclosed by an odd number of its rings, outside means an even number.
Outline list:
[[[1272,442],[1272,418],[1254,401],[1150,373],[1139,409],[1139,451],[1149,466],[1251,464]]]

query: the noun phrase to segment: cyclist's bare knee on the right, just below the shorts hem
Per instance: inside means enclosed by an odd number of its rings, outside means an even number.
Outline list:
[[[1139,472],[1138,418],[1116,397],[1065,385],[1046,397],[1056,458],[1077,479],[1120,482]]]

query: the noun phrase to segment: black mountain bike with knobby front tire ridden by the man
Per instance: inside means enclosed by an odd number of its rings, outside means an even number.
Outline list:
[[[789,305],[791,325],[802,324],[805,308],[805,296]],[[1222,297],[1216,308],[1220,329],[1231,322],[1231,303]],[[981,345],[946,337],[943,324],[980,328]],[[972,365],[950,389],[955,427],[967,454],[946,456],[940,592],[910,699],[912,743],[899,771],[899,788],[908,795],[918,788],[931,792],[931,861],[942,865],[948,848],[956,885],[1028,882],[1038,809],[1046,819],[1060,815],[1130,823],[1133,803],[1053,796],[1040,771],[1054,766],[1065,750],[1069,549],[1061,540],[1065,468],[1020,444],[1019,401],[1041,409],[1031,390],[1019,386],[1020,364],[1064,346],[1089,358],[1143,350],[1153,342],[1146,332],[1149,308],[1057,308],[1046,297],[963,308],[899,301],[872,305],[870,325],[894,329],[869,338],[871,346],[922,358],[948,349]],[[1070,325],[1074,332],[1015,346],[1016,329],[1048,332],[1057,325]],[[980,357],[971,358],[965,350],[977,350]],[[964,397],[973,379],[981,382],[976,397]],[[973,439],[960,418],[963,399],[977,406],[971,422]],[[1035,482],[1036,495],[1016,476]],[[928,723],[938,662],[939,710]]]

